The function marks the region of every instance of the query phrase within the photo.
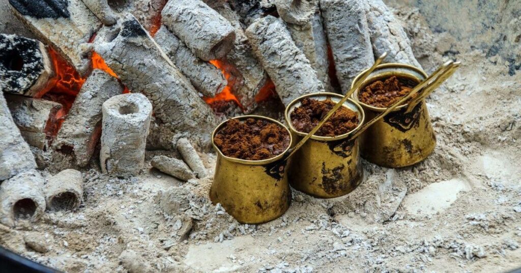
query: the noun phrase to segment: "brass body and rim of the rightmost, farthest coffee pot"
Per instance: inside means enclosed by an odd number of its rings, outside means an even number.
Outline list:
[[[363,72],[360,74],[362,75]],[[360,76],[359,75],[359,76]],[[359,76],[353,80],[353,85]],[[363,82],[365,86],[375,80],[397,76],[411,79],[417,83],[427,75],[421,69],[405,64],[383,64]],[[358,101],[358,90],[352,95]],[[359,102],[367,120],[386,110]],[[425,99],[407,112],[408,104],[398,106],[394,111],[367,128],[359,137],[361,155],[369,162],[388,168],[400,168],[413,165],[427,158],[436,147],[436,136],[430,123]]]

